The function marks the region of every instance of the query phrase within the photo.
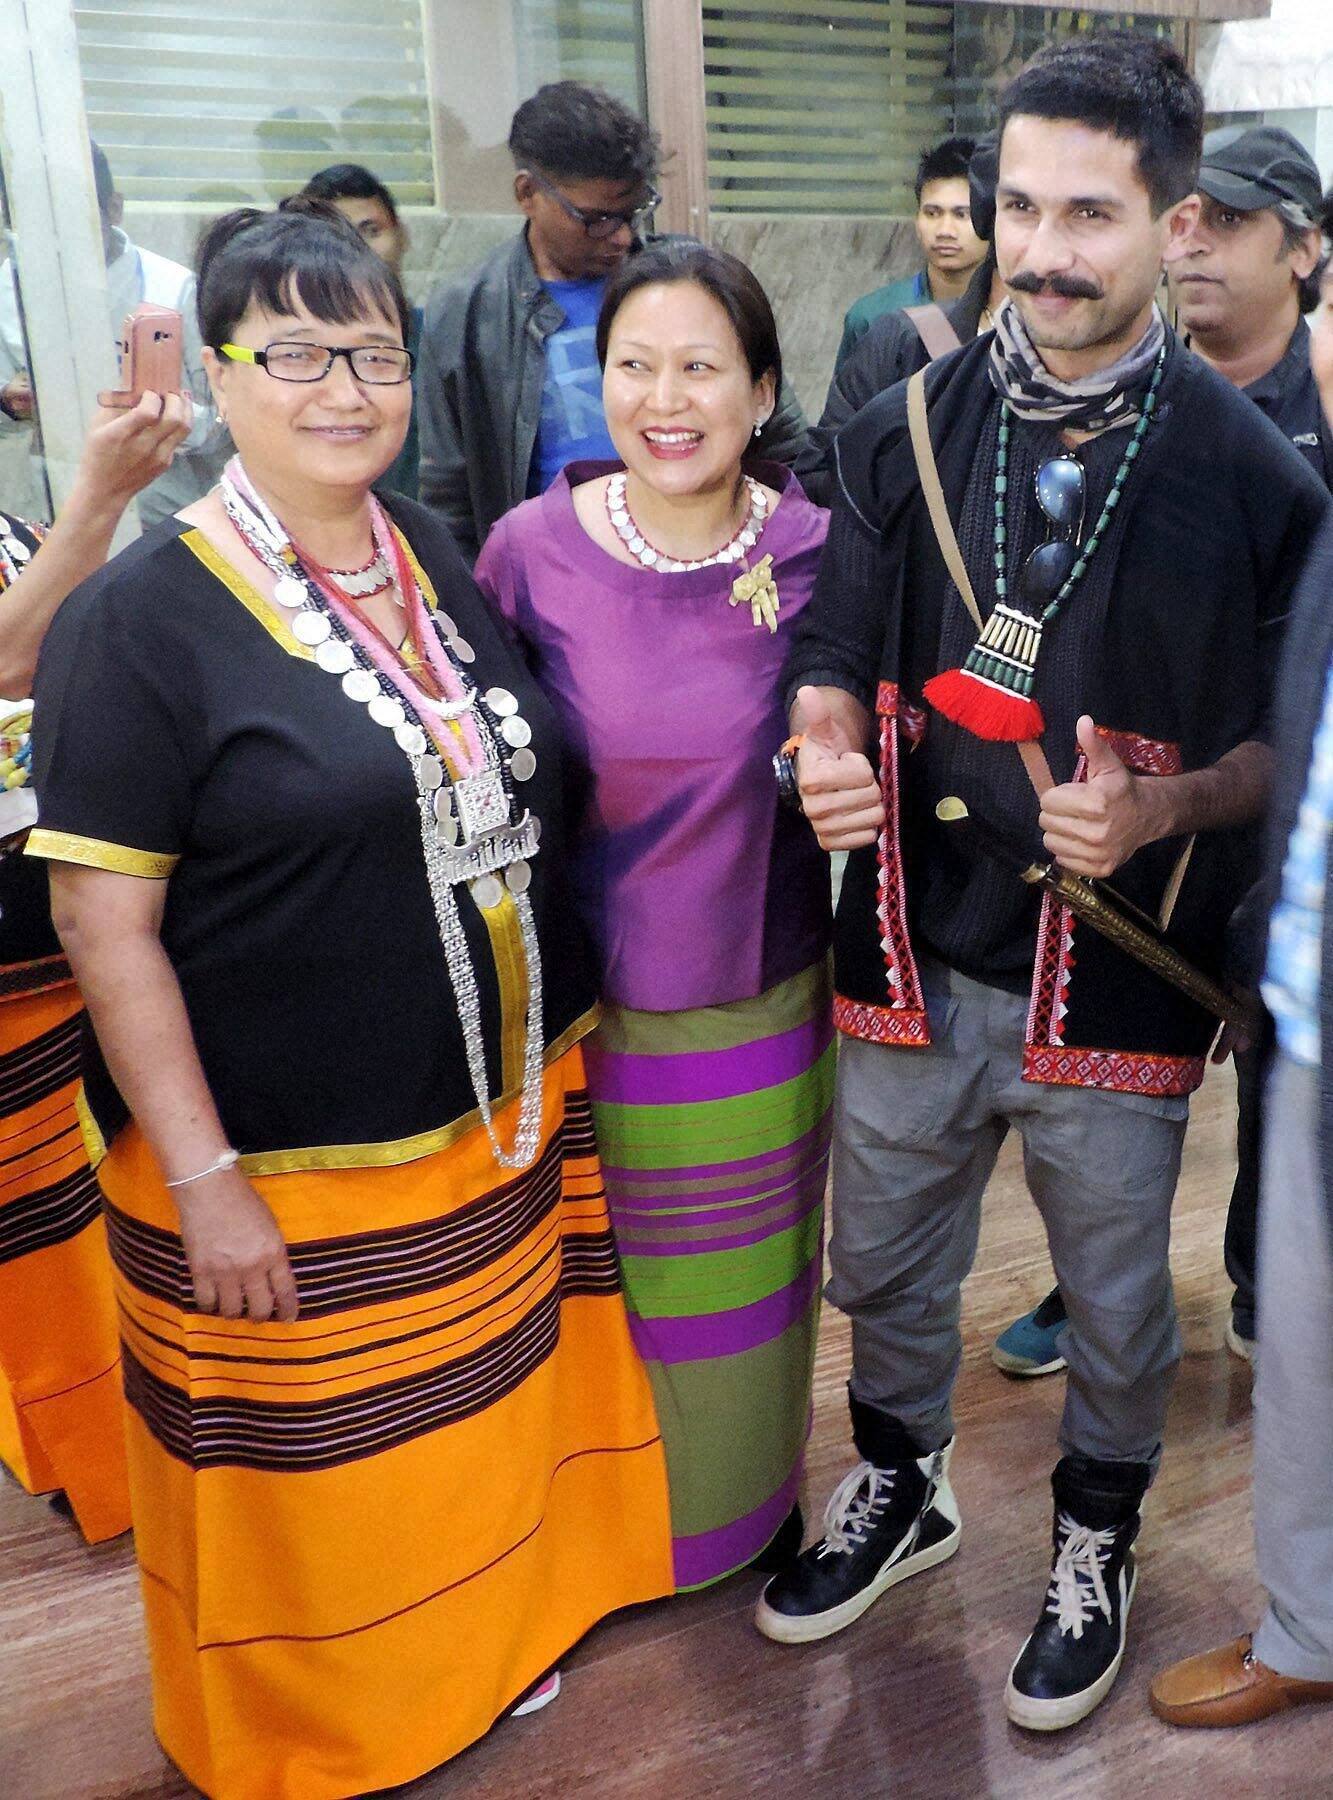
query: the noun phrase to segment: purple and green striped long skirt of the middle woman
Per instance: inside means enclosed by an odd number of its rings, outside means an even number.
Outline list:
[[[727,1006],[608,1006],[585,1049],[666,1442],[676,1588],[698,1588],[759,1555],[801,1483],[833,1109],[828,968]]]

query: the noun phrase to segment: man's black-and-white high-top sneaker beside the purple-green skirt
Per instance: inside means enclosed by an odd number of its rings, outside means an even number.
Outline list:
[[[912,1462],[862,1462],[833,1492],[824,1535],[759,1597],[754,1622],[777,1643],[811,1643],[851,1625],[881,1593],[959,1548],[959,1505],[944,1449]]]

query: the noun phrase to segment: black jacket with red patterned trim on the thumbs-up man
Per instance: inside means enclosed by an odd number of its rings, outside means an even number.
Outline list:
[[[988,358],[984,337],[943,356],[926,376],[930,436],[955,520],[979,418],[995,398]],[[786,682],[845,688],[878,715],[889,823],[876,846],[847,862],[835,925],[835,1017],[851,1035],[908,1046],[928,1035],[912,950],[921,846],[899,830],[908,810],[921,815],[928,806],[916,805],[923,778],[907,751],[923,731],[939,729],[921,697],[941,668],[943,621],[961,603],[926,517],[905,414],[905,391],[896,387],[838,436],[829,545]],[[1079,707],[1114,733],[1124,761],[1144,772],[1203,769],[1266,733],[1290,596],[1326,508],[1328,493],[1275,427],[1173,346],[1157,423],[1117,515],[1101,655],[1079,697]],[[860,578],[856,563],[867,571]],[[973,569],[973,580],[980,594],[986,572]],[[1015,756],[1011,745],[986,749]],[[1072,747],[1047,749],[1060,772]],[[926,796],[932,805],[934,797]],[[1155,914],[1178,850],[1148,844],[1117,871],[1115,887]],[[1252,880],[1241,850],[1236,833],[1200,835],[1180,889],[1171,941],[1207,970],[1220,968],[1227,920]],[[1058,927],[1058,916],[1043,918],[1034,947],[1042,954],[1025,1076],[1155,1093],[1194,1087],[1216,1022],[1094,932],[1079,932],[1078,968],[1074,961],[1065,968]],[[1051,1017],[1056,985],[1063,1012]]]

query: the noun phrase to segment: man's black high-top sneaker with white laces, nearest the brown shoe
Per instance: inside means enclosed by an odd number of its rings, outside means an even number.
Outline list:
[[[1115,1476],[1124,1471],[1128,1490],[1079,1494],[1069,1478],[1061,1481],[1061,1472],[1079,1463]],[[1087,1719],[1121,1672],[1137,1580],[1132,1544],[1146,1476],[1142,1463],[1087,1458],[1065,1458],[1056,1469],[1051,1586],[1004,1690],[1006,1712],[1029,1732],[1063,1732]]]

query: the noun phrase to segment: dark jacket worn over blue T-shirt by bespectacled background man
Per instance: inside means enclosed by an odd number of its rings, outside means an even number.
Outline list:
[[[417,367],[421,499],[468,562],[495,520],[527,499],[545,342],[563,322],[559,302],[541,286],[527,229],[426,304]],[[756,454],[790,464],[804,437],[806,418],[784,385]]]

